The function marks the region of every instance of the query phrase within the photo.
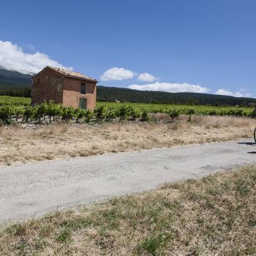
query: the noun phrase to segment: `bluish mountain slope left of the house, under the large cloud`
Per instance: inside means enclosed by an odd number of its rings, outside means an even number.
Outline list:
[[[8,71],[0,66],[0,90],[24,89],[31,87],[31,75]]]

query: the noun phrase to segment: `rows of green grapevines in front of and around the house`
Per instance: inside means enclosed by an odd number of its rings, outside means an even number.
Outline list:
[[[52,121],[112,121],[140,120],[149,121],[150,113],[166,113],[172,121],[181,114],[210,116],[239,116],[252,115],[252,107],[214,107],[214,106],[185,106],[167,104],[132,104],[116,102],[97,102],[94,111],[64,107],[54,102],[44,102],[38,106],[30,106],[31,99],[19,97],[0,97],[0,125],[13,122],[52,122]]]

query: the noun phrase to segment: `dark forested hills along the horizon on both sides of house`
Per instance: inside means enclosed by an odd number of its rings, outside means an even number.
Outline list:
[[[7,71],[0,66],[0,95],[30,97],[31,75],[17,71]],[[152,92],[137,91],[119,87],[97,86],[97,101],[115,100],[155,104],[198,104],[198,105],[247,105],[256,104],[256,99],[199,94],[193,92]]]

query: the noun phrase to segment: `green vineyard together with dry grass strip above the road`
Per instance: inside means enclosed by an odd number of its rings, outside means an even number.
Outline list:
[[[250,138],[256,126],[250,107],[28,104],[0,97],[0,165]]]

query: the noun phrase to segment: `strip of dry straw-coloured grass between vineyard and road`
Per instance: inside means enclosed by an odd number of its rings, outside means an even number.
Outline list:
[[[152,119],[2,126],[0,165],[250,138],[256,126],[255,119],[239,117],[192,116],[187,122],[181,116],[170,122],[166,114],[154,114]]]

